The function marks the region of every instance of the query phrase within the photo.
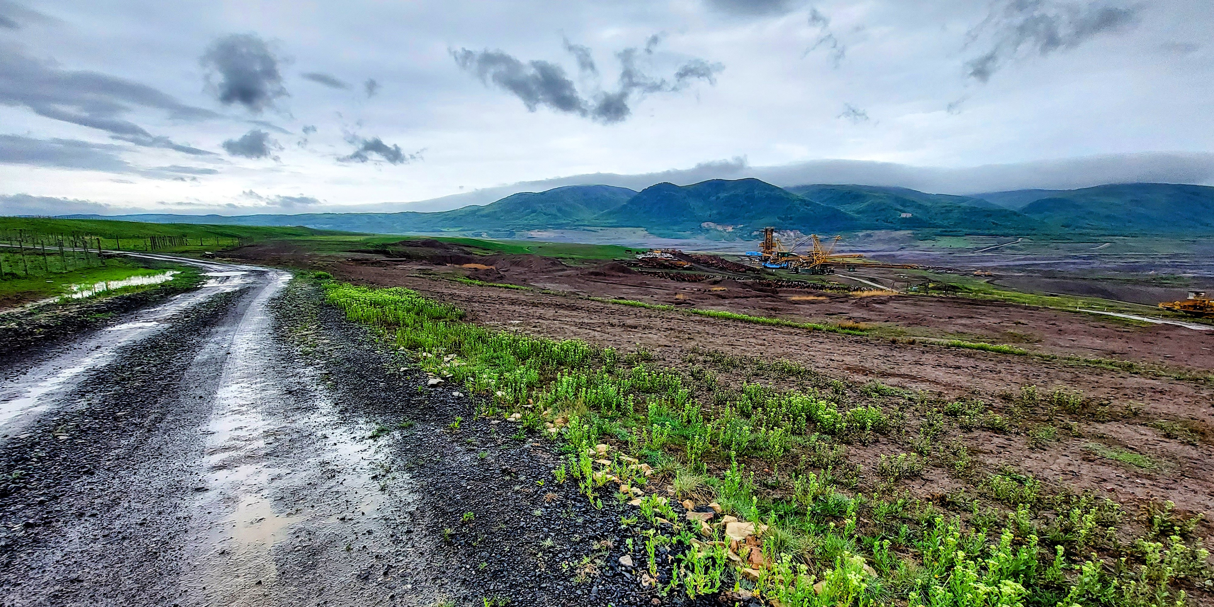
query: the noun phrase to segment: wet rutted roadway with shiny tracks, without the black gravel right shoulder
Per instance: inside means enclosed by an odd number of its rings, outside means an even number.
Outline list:
[[[0,603],[430,605],[392,565],[408,475],[276,325],[290,274],[191,262],[0,375]]]

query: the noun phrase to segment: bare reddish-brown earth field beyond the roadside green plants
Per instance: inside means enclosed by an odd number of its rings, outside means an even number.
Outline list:
[[[435,251],[439,253],[439,251]],[[1023,430],[965,432],[970,453],[988,469],[1012,466],[1039,478],[1105,493],[1122,504],[1170,499],[1178,510],[1214,515],[1214,331],[1172,325],[1144,327],[1049,308],[974,301],[960,297],[856,297],[845,294],[749,288],[725,279],[682,283],[639,274],[620,263],[572,267],[535,257],[470,257],[442,251],[430,261],[385,261],[370,255],[307,260],[300,251],[244,248],[240,259],[324,268],[358,284],[408,287],[453,302],[473,322],[527,334],[582,339],[620,350],[645,347],[659,364],[686,365],[707,351],[760,359],[788,359],[822,374],[858,382],[923,390],[946,398],[976,397]],[[437,255],[436,255],[437,256]],[[493,266],[465,268],[464,263]],[[528,285],[529,290],[465,285],[443,273]],[[722,289],[724,288],[724,289]],[[549,290],[540,293],[540,290]],[[874,323],[891,333],[963,335],[1011,342],[1032,352],[1110,358],[1158,364],[1156,371],[1123,371],[1065,358],[1015,356],[951,348],[906,337],[851,336],[790,327],[708,318],[680,311],[656,311],[595,301],[620,297],[674,306],[728,310],[800,320]],[[805,297],[805,299],[793,299]],[[813,299],[809,299],[813,297]],[[824,297],[824,299],[818,299]],[[1014,334],[1009,331],[1015,331]],[[1196,379],[1195,379],[1196,378]],[[1042,392],[1082,391],[1102,403],[1094,410],[1062,415],[1016,409],[1011,395],[1023,386]],[[1046,415],[1059,427],[1056,441],[1029,444],[1032,427]],[[1178,421],[1191,429],[1169,438],[1155,425]],[[1094,449],[1093,446],[1096,446]],[[1140,467],[1100,456],[1100,446],[1148,456]],[[875,467],[889,446],[853,446],[849,459]],[[926,493],[952,490],[947,475],[925,472]]]

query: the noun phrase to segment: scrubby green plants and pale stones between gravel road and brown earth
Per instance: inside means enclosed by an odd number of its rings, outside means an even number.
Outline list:
[[[1077,414],[1122,414],[1082,393],[1026,387],[1000,404],[1005,415],[787,361],[698,352],[675,371],[643,350],[466,323],[408,289],[323,288],[433,378],[480,395],[480,415],[563,446],[552,481],[577,483],[599,507],[635,506],[622,524],[648,557],[637,574],[665,592],[785,607],[1172,607],[1212,585],[1198,518],[1170,504],[1136,516],[1010,467],[986,470],[960,438],[1033,431],[1045,442]],[[898,449],[870,471],[846,456],[890,444]],[[929,472],[966,488],[909,490]]]

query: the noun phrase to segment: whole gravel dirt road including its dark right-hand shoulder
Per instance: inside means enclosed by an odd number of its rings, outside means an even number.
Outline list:
[[[290,274],[206,270],[8,357],[0,605],[652,603],[611,555],[620,506],[538,490],[546,442],[473,420]]]

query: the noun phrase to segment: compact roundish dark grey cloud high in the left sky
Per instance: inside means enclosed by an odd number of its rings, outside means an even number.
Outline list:
[[[239,103],[249,112],[261,113],[288,96],[278,57],[256,34],[229,34],[220,38],[203,55],[208,84],[221,103]]]

